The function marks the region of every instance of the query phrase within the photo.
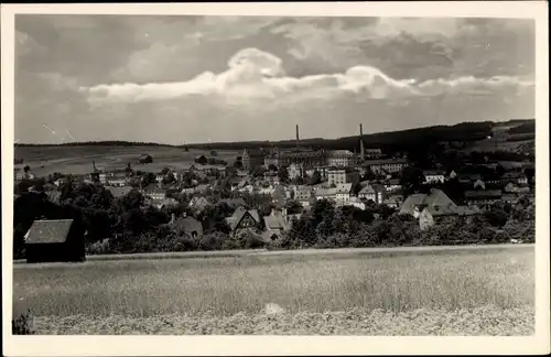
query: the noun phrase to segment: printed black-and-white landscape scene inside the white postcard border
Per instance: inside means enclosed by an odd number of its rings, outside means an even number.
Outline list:
[[[534,3],[284,9],[11,13],[11,335],[536,336]]]

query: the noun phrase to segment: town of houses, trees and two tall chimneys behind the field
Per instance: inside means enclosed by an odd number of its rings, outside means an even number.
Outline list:
[[[309,148],[295,131],[294,148],[242,148],[233,164],[204,151],[159,172],[148,170],[149,153],[119,170],[93,161],[89,174],[47,177],[17,159],[14,257],[534,239],[529,153],[460,154],[449,143],[440,162],[428,152],[423,166],[407,151],[365,142],[361,123],[352,150]],[[506,141],[504,133],[487,140]],[[77,249],[47,248],[74,239]]]

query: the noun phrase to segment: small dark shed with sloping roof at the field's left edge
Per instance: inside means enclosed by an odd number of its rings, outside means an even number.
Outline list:
[[[84,234],[73,219],[35,220],[25,235],[26,262],[85,261]]]

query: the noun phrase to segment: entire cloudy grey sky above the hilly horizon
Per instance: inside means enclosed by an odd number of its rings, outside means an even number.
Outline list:
[[[15,19],[15,141],[338,138],[534,117],[522,19]]]

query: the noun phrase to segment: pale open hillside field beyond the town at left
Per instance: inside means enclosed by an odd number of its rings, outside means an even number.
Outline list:
[[[141,154],[150,154],[153,158],[151,164],[139,164]],[[217,151],[219,159],[233,163],[238,151]],[[87,174],[91,171],[91,162],[96,162],[98,169],[117,170],[125,169],[128,163],[134,170],[159,172],[163,167],[182,169],[188,166],[195,156],[199,154],[209,155],[205,150],[184,151],[172,147],[120,147],[120,145],[82,145],[82,147],[15,147],[14,156],[23,159],[23,164],[15,167],[29,165],[32,172],[39,176],[60,173]]]

